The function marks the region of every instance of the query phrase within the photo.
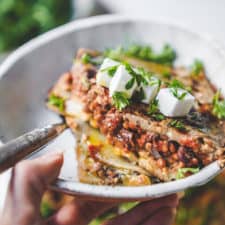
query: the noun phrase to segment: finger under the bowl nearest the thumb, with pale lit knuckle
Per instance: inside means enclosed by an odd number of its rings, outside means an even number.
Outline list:
[[[114,207],[116,203],[73,200],[48,219],[48,225],[86,225],[102,213]]]

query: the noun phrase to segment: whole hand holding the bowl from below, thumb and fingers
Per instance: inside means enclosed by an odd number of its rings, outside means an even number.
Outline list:
[[[73,200],[49,219],[40,215],[41,198],[47,186],[59,175],[62,154],[25,160],[13,169],[2,225],[87,225],[92,219],[115,207],[115,203]],[[169,225],[177,207],[176,195],[143,202],[104,225]]]

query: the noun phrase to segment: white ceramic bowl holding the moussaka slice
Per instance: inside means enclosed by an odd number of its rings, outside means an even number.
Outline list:
[[[67,71],[79,47],[104,49],[127,42],[150,43],[156,49],[170,43],[178,53],[177,64],[195,58],[206,66],[208,78],[225,93],[225,54],[208,37],[180,27],[137,18],[101,16],[75,21],[52,30],[20,47],[0,66],[0,136],[3,141],[61,118],[45,107],[48,89]],[[218,174],[217,162],[188,178],[144,187],[96,186],[80,183],[76,174],[75,140],[70,131],[45,151],[65,150],[60,178],[52,186],[66,193],[98,200],[140,200],[202,185]]]

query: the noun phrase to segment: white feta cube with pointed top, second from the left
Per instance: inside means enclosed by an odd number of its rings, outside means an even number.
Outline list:
[[[109,86],[109,94],[113,96],[115,92],[123,92],[127,95],[128,98],[132,96],[135,89],[137,88],[137,82],[134,80],[133,85],[129,88],[126,87],[127,83],[134,79],[131,74],[126,70],[124,65],[120,65],[114,74],[110,86]]]

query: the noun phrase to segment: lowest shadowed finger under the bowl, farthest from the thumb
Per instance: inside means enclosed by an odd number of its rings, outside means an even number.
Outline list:
[[[171,225],[175,217],[174,208],[161,208],[148,217],[142,225]]]

